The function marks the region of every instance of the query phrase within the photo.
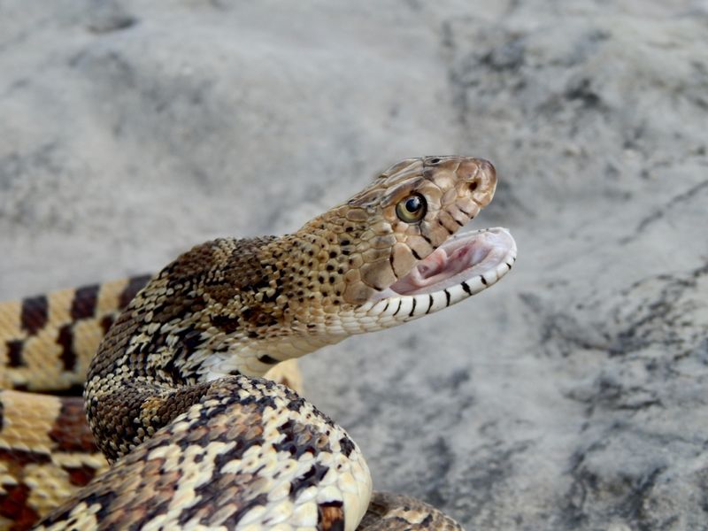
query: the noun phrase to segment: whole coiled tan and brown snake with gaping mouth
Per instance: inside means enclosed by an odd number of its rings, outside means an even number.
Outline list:
[[[0,304],[0,527],[462,529],[373,491],[292,364],[504,277],[509,231],[459,231],[495,190],[484,159],[407,158],[289,235]]]

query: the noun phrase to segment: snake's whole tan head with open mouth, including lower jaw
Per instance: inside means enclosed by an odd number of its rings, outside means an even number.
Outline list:
[[[495,189],[494,166],[481,158],[409,158],[313,219],[299,234],[326,250],[316,288],[323,311],[374,316],[397,308],[408,320],[495,283],[516,259],[512,236],[503,228],[456,235]]]

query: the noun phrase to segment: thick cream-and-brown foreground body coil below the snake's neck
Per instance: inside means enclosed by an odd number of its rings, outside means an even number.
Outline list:
[[[165,529],[255,530],[287,519],[336,529],[344,500],[368,496],[367,477],[356,444],[312,404],[273,381],[233,377],[213,381],[196,404],[40,528],[158,521]],[[258,510],[267,503],[278,511]]]

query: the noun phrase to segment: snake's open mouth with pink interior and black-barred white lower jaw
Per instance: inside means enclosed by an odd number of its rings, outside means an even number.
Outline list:
[[[516,260],[516,242],[502,227],[450,237],[389,289],[373,296],[369,313],[415,317],[475,295],[499,281]],[[391,313],[394,312],[394,313]]]

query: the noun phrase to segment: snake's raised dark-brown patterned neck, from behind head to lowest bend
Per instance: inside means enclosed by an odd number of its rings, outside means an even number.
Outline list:
[[[322,298],[342,290],[324,276],[331,251],[323,254],[312,241],[317,231],[308,231],[309,238],[198,245],[135,296],[99,346],[84,392],[107,458],[125,455],[204,400],[222,377],[248,387],[280,361],[346,337],[341,329],[327,333],[335,315],[328,309],[343,304]],[[320,278],[327,289],[314,288]]]

